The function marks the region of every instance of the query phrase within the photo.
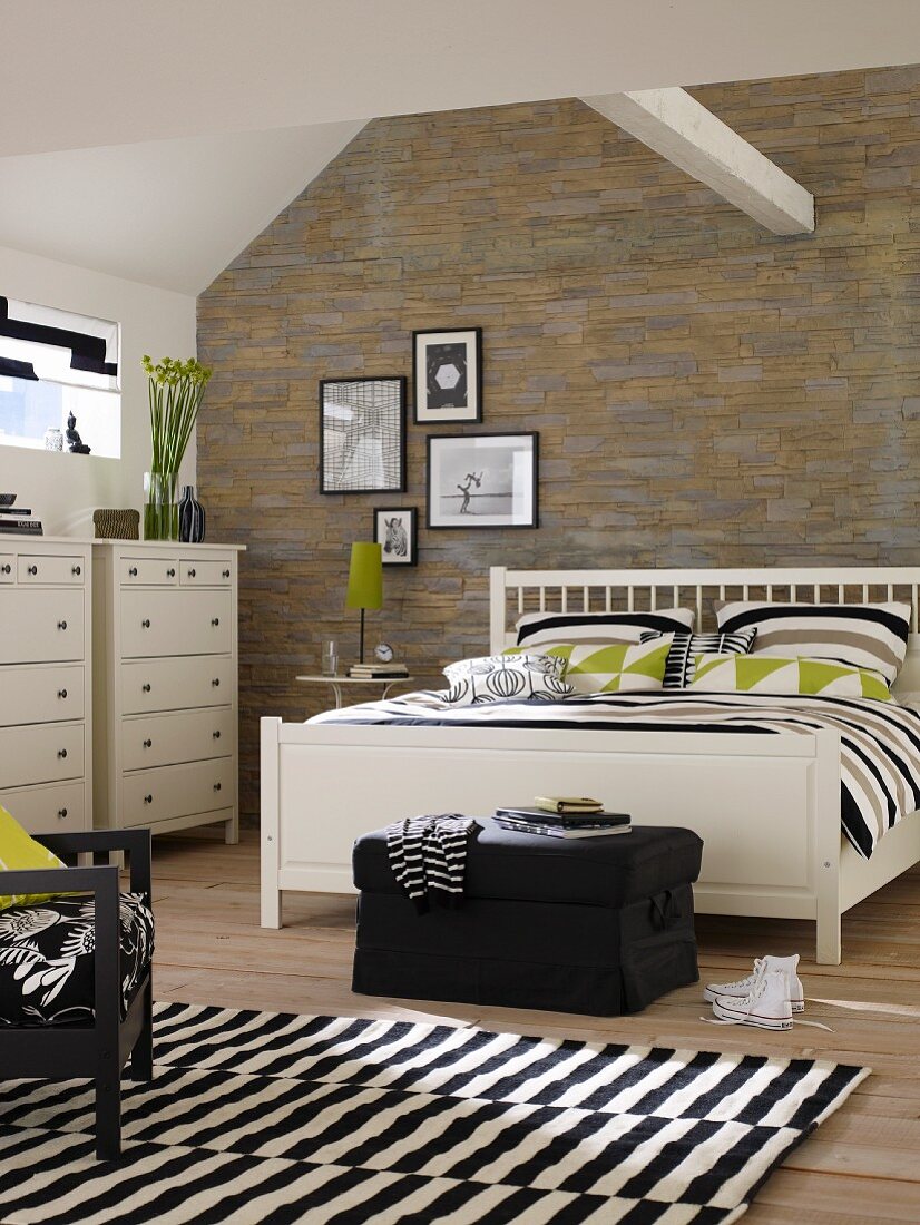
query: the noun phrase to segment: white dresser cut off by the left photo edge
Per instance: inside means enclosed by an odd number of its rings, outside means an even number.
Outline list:
[[[0,535],[0,804],[32,833],[92,827],[89,541]]]

